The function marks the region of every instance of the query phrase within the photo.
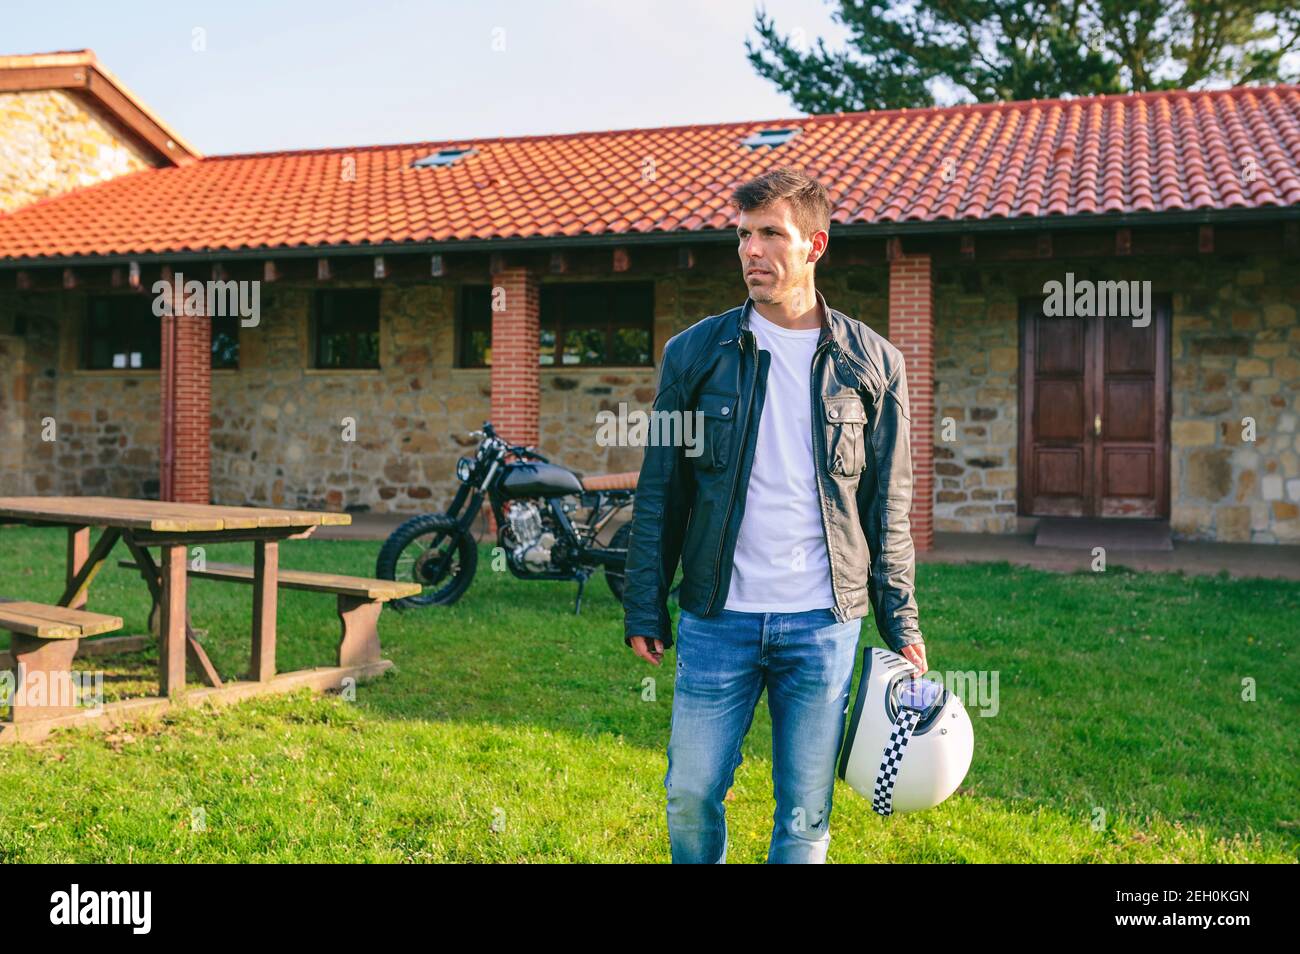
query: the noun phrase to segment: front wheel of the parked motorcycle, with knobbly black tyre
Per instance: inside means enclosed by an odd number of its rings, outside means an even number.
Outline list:
[[[420,584],[424,587],[420,595],[389,603],[398,610],[413,610],[455,603],[469,589],[477,568],[478,545],[473,535],[445,513],[424,513],[407,520],[384,541],[374,574],[380,580]]]

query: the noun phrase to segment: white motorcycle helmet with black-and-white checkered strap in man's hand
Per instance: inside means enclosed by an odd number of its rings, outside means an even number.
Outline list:
[[[879,815],[935,807],[962,784],[975,751],[962,701],[915,672],[896,652],[862,651],[840,777]]]

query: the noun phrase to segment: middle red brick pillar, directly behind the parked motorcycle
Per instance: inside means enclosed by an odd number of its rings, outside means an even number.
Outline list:
[[[528,269],[507,268],[493,274],[491,283],[493,428],[511,443],[536,445],[541,432],[537,276]]]

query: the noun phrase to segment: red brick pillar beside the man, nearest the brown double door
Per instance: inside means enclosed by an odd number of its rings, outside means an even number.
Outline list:
[[[911,539],[935,545],[935,291],[928,255],[889,263],[889,341],[902,352],[911,404]]]

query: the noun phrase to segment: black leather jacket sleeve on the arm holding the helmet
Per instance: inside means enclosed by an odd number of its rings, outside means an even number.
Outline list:
[[[870,435],[876,499],[859,507],[858,513],[863,521],[875,522],[874,528],[862,528],[867,541],[876,543],[871,552],[867,594],[880,637],[897,652],[909,643],[920,642],[922,636],[914,593],[916,554],[909,519],[911,411],[901,355],[896,355],[892,370],[875,407]]]

